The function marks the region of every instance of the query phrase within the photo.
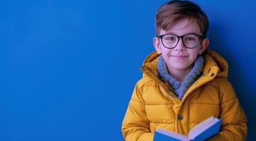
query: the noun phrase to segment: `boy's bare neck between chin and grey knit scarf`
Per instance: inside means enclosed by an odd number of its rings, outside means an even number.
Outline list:
[[[175,78],[179,82],[183,82],[183,80],[187,77],[187,75],[189,74],[192,68],[193,68],[193,65],[182,70],[167,66],[167,71],[169,75],[172,75],[173,78]]]

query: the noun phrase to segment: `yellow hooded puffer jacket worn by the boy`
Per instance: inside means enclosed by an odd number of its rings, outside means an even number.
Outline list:
[[[189,130],[210,116],[222,118],[221,130],[209,140],[245,140],[247,120],[232,85],[228,63],[214,51],[204,54],[204,75],[179,100],[169,83],[157,72],[158,54],[144,61],[143,78],[135,85],[122,133],[128,141],[153,140],[157,128],[188,135]]]

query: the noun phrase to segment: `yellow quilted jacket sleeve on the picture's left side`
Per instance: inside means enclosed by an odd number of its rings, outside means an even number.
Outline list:
[[[127,141],[153,140],[153,133],[150,133],[150,125],[145,113],[144,100],[138,83],[133,90],[133,95],[123,119],[122,133]]]

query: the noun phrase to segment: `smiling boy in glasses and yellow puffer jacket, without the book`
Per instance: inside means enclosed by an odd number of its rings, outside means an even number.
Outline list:
[[[247,120],[232,85],[228,63],[206,50],[208,18],[191,1],[169,1],[156,18],[156,51],[144,61],[122,133],[126,140],[153,140],[157,128],[187,135],[210,116],[222,118],[209,140],[245,140]]]

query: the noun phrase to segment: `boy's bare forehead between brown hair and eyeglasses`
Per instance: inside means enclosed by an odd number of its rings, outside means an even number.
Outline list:
[[[172,33],[179,36],[189,33],[201,35],[199,24],[194,18],[181,18],[177,20],[168,30],[160,30],[160,35],[167,33]]]

